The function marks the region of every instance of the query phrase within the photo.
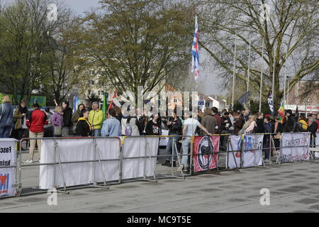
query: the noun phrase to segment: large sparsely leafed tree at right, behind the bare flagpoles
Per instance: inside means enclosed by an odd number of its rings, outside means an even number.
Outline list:
[[[281,89],[281,78],[285,65],[295,68],[291,87],[303,77],[318,70],[318,1],[201,1],[198,9],[205,11],[201,13],[205,31],[201,46],[216,60],[226,82],[233,75],[236,31],[238,46],[235,76],[247,82],[248,49],[251,39],[250,85],[259,90],[260,66],[264,61],[263,95],[267,96],[267,92],[272,88],[274,72],[276,106],[279,106],[284,93]]]

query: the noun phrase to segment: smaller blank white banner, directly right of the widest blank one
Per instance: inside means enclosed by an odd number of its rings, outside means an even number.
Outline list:
[[[143,157],[123,160],[123,179],[149,177],[154,174],[159,138],[127,137],[123,143],[123,157]],[[144,158],[146,157],[146,158]]]

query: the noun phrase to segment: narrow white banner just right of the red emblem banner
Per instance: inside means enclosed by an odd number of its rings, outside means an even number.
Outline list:
[[[229,168],[231,170],[236,169],[236,163],[237,163],[237,167],[240,168],[241,143],[242,143],[241,135],[229,136],[228,150],[239,150],[239,151],[228,153],[228,155],[226,156],[226,168]]]

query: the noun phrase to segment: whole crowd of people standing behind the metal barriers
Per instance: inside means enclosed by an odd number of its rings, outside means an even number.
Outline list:
[[[136,110],[139,113],[139,110]],[[103,121],[103,111],[99,103],[79,104],[77,111],[72,111],[69,102],[56,103],[54,114],[47,108],[40,110],[38,104],[33,104],[33,111],[28,111],[28,102],[21,100],[18,108],[13,109],[9,96],[4,96],[0,105],[0,138],[33,138],[30,140],[29,157],[26,162],[33,162],[35,146],[41,154],[41,140],[44,137],[117,137],[162,135],[168,130],[169,138],[166,153],[167,159],[162,165],[176,167],[177,153],[173,148],[181,150],[183,154],[180,170],[189,170],[189,146],[191,136],[220,134],[220,150],[227,150],[229,134],[268,133],[264,135],[265,160],[270,158],[270,139],[274,138],[275,147],[279,148],[280,135],[283,132],[310,132],[315,136],[319,130],[318,116],[313,114],[307,119],[305,116],[296,116],[291,110],[286,111],[284,123],[279,117],[256,115],[245,111],[218,111],[216,107],[198,111],[196,114],[184,112],[182,117],[177,116],[177,109],[172,115],[161,117],[158,114],[142,114],[142,116],[123,115],[121,109],[114,106],[108,111]],[[179,141],[182,139],[181,143]],[[171,162],[171,157],[172,162]]]

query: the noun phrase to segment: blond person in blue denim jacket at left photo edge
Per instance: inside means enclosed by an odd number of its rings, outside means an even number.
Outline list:
[[[9,96],[2,97],[0,104],[0,138],[9,138],[13,126],[13,106]]]

